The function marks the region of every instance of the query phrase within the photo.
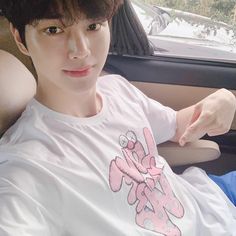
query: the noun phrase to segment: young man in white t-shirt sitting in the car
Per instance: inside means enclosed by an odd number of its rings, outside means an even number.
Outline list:
[[[156,150],[226,132],[231,93],[175,112],[118,75],[99,77],[119,0],[1,3],[38,78],[1,140],[0,235],[236,235],[218,185],[197,168],[175,175]]]

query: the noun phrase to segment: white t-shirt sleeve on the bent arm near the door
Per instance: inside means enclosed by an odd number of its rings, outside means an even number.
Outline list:
[[[147,97],[142,91],[133,86],[128,80],[119,76],[123,90],[130,97],[139,103],[147,117],[157,144],[163,143],[174,137],[176,132],[177,112],[170,107]]]

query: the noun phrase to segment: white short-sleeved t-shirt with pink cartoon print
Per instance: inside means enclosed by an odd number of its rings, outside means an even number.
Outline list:
[[[97,90],[93,117],[33,99],[3,136],[0,235],[236,235],[236,209],[205,172],[176,175],[158,155],[176,112],[117,75]]]

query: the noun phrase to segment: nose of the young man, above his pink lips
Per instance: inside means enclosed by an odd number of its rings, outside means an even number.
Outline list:
[[[89,40],[83,33],[73,33],[68,40],[68,57],[84,59],[90,54]]]

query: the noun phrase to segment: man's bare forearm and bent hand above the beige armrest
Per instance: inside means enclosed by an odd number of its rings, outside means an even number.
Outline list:
[[[171,141],[184,146],[205,134],[221,135],[229,131],[236,110],[236,98],[226,89],[210,94],[197,104],[177,112],[176,134]]]

